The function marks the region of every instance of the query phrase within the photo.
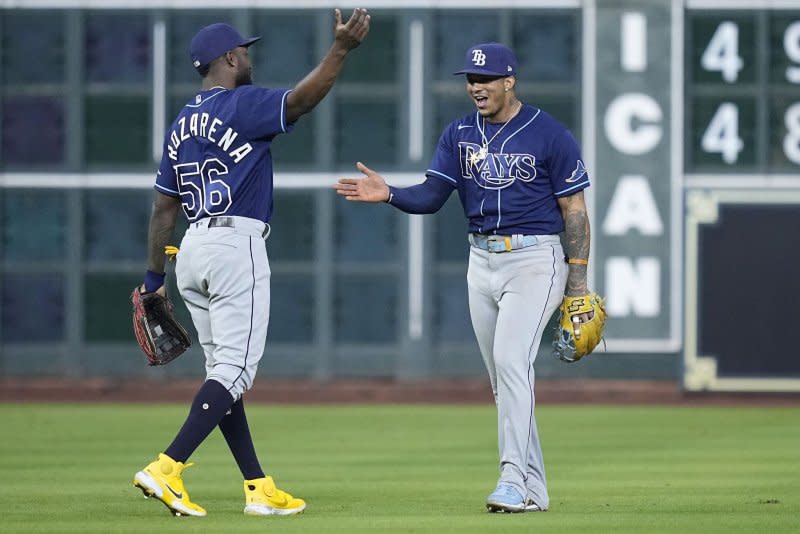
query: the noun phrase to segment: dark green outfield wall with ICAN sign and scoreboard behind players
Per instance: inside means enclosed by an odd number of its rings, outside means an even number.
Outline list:
[[[201,371],[197,348],[145,368],[130,332],[153,174],[198,85],[186,53],[197,28],[222,20],[262,35],[257,83],[292,86],[313,68],[339,6],[284,5],[0,2],[0,376]],[[781,305],[800,288],[776,231],[800,227],[800,0],[363,5],[367,41],[274,144],[271,375],[484,373],[456,199],[409,216],[342,202],[331,186],[357,160],[395,185],[421,181],[443,126],[470,109],[451,72],[469,45],[500,40],[519,56],[521,98],[582,144],[590,285],[609,312],[604,352],[565,365],[545,342],[539,376],[800,389],[800,360],[765,335],[775,310],[800,319]],[[721,320],[731,309],[744,332]],[[181,304],[178,316],[190,323]]]

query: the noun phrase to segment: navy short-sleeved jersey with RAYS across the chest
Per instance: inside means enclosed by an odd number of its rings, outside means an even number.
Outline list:
[[[505,125],[477,111],[450,123],[426,175],[458,189],[469,231],[481,234],[557,234],[557,198],[589,186],[575,138],[530,105]]]

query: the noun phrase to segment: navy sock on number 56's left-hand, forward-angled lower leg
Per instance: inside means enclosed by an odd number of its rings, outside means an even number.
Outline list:
[[[189,416],[164,454],[185,463],[232,404],[233,397],[225,386],[216,380],[207,380],[195,395]]]

